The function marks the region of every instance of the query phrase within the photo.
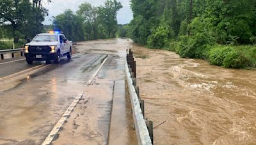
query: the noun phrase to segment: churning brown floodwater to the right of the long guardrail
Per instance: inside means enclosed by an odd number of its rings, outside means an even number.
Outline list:
[[[155,144],[256,144],[256,71],[131,48]]]

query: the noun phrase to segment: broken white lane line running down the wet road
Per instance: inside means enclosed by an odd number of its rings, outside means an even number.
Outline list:
[[[108,57],[106,57],[106,59],[102,62],[102,64],[100,64],[100,66],[97,69],[97,71],[95,71],[93,73],[93,75],[89,79],[87,85],[91,85],[93,79],[97,76],[98,72],[100,71],[101,67],[105,64],[107,59],[108,59]],[[84,95],[84,93],[81,93],[81,94],[77,95],[76,99],[74,99],[72,104],[70,104],[70,106],[68,107],[67,111],[63,114],[63,116],[60,118],[58,123],[54,126],[54,128],[52,128],[51,133],[48,135],[48,137],[45,139],[45,141],[42,143],[42,145],[50,145],[52,143],[52,141],[54,141],[54,140],[56,140],[58,138],[58,132],[60,131],[62,125],[70,117],[70,114],[74,110],[74,107],[76,107],[77,103],[79,102],[79,100],[81,100],[83,95]]]

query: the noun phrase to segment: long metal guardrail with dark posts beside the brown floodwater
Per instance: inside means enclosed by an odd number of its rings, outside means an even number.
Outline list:
[[[136,86],[136,62],[133,53],[129,50],[125,61],[125,75],[131,95],[132,114],[134,127],[138,139],[138,144],[154,144],[153,140],[153,122],[144,118],[144,100],[140,99],[139,87]]]

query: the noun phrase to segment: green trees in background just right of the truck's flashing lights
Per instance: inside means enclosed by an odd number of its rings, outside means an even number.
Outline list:
[[[115,38],[118,30],[116,15],[120,8],[122,4],[116,0],[107,0],[99,7],[83,3],[76,13],[66,10],[54,17],[54,30],[65,32],[72,41]]]

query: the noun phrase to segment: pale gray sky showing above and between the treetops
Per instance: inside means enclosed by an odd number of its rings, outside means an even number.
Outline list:
[[[46,1],[46,0],[45,0]],[[43,5],[49,10],[49,16],[45,17],[43,24],[52,24],[52,16],[63,13],[66,9],[70,9],[74,12],[78,10],[78,6],[81,3],[88,2],[93,6],[104,5],[105,0],[52,0],[52,3],[44,2]],[[132,11],[130,8],[130,0],[117,0],[120,1],[124,8],[118,11],[117,20],[118,24],[127,24],[132,20]]]

